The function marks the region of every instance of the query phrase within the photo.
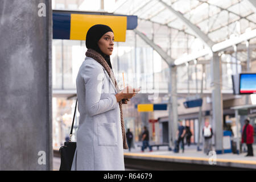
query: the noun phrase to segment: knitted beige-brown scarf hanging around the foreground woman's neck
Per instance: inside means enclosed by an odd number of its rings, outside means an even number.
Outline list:
[[[112,71],[112,69],[110,69],[109,64],[106,62],[106,60],[104,59],[104,57],[102,57],[102,55],[96,51],[94,51],[93,49],[87,49],[86,56],[88,57],[92,57],[92,59],[96,60],[98,63],[100,63],[102,65],[102,67],[104,67],[104,69],[106,70],[106,72],[108,73],[110,79],[112,80],[112,82],[115,85],[115,88],[117,89],[118,92],[120,92],[121,90],[119,90],[119,87],[117,85],[117,81],[115,80],[115,76],[114,73]],[[125,123],[123,121],[123,111],[122,111],[122,101],[118,102],[119,104],[119,108],[120,108],[120,115],[121,115],[121,126],[122,126],[122,137],[123,137],[123,148],[127,149],[127,142],[126,142],[126,134],[125,134]]]

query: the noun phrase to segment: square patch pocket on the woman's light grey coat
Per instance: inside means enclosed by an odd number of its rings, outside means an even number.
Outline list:
[[[98,145],[117,146],[117,124],[97,123]]]

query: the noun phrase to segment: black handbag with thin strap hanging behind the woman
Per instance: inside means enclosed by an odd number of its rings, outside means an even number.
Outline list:
[[[76,106],[77,106],[77,100],[76,100]],[[76,107],[75,107],[75,112],[74,112],[74,116],[73,116],[71,131],[70,131],[70,135],[69,135],[70,136],[69,141],[65,142],[64,146],[61,146],[60,150],[59,150],[59,152],[60,152],[60,171],[71,171],[72,162],[73,162],[73,158],[74,158],[75,151],[76,151],[76,142],[71,142],[75,116],[76,116]]]

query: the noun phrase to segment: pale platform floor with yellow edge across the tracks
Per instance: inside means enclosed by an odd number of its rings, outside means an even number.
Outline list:
[[[128,150],[124,151],[125,157],[197,164],[209,164],[209,159],[211,158],[211,156],[204,154],[203,150],[197,151],[197,146],[195,145],[185,146],[184,153],[182,151],[175,153],[174,151],[168,151],[168,146],[159,147],[159,150],[156,150],[156,147],[154,147],[152,152],[147,148],[144,152],[141,152],[141,147],[138,147],[137,144],[139,143],[135,144],[135,148],[132,148],[131,152]],[[203,148],[203,146],[200,146],[200,148]],[[246,152],[242,152],[239,155],[233,153],[217,154],[217,165],[256,169],[256,145],[253,148],[254,156],[246,157]]]

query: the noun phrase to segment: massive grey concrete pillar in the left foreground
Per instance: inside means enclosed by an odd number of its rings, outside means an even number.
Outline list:
[[[51,1],[1,1],[0,35],[0,171],[51,170]]]

